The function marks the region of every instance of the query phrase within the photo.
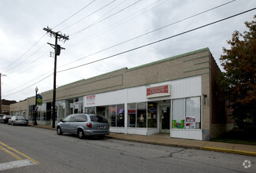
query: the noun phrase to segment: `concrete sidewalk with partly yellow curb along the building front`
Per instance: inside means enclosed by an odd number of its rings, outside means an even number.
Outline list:
[[[50,130],[56,130],[51,126],[37,125],[32,127],[41,127]],[[170,138],[169,134],[153,134],[150,136],[135,135],[135,134],[117,134],[110,133],[106,136],[107,138],[114,138],[118,140],[130,141],[130,142],[143,142],[154,145],[166,145],[181,147],[187,149],[202,149],[222,153],[235,153],[247,156],[256,156],[256,145],[242,145],[232,144],[224,142],[207,142],[199,140],[181,139],[181,138]]]

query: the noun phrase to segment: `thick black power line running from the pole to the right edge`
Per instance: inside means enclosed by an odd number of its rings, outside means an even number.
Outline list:
[[[256,8],[254,8],[254,9],[256,9]],[[124,52],[117,53],[117,54],[111,55],[111,56],[109,56],[109,57],[104,57],[104,58],[99,59],[99,60],[96,60],[96,61],[91,61],[91,62],[88,62],[88,63],[86,63],[86,64],[81,64],[81,65],[78,65],[78,66],[75,66],[75,67],[72,67],[72,68],[67,68],[67,69],[61,70],[61,71],[59,71],[59,72],[65,72],[65,71],[72,70],[72,69],[74,69],[74,68],[80,68],[80,67],[83,67],[83,66],[85,66],[85,65],[87,65],[87,64],[93,64],[93,63],[98,62],[98,61],[103,61],[103,60],[109,59],[110,57],[117,57],[118,55],[121,55],[121,54],[124,54],[124,53],[128,53],[128,52],[132,52],[133,50],[139,50],[139,49],[141,49],[141,48],[143,48],[143,47],[150,46],[150,45],[153,45],[153,44],[155,44],[155,43],[165,41],[165,40],[167,40],[167,39],[173,39],[174,37],[187,34],[188,32],[191,32],[191,31],[195,31],[195,30],[198,30],[198,29],[201,29],[201,28],[206,28],[206,27],[208,27],[208,26],[210,26],[210,25],[212,25],[212,24],[217,24],[217,23],[219,23],[219,22],[221,22],[221,21],[228,20],[228,19],[230,19],[230,18],[232,18],[232,17],[237,17],[237,16],[239,16],[239,15],[241,15],[241,14],[243,14],[243,13],[248,13],[248,12],[254,10],[254,9],[249,9],[249,10],[244,11],[244,12],[242,12],[242,13],[237,13],[237,14],[232,15],[232,16],[230,16],[230,17],[226,17],[226,18],[224,18],[224,19],[214,21],[214,22],[212,22],[212,23],[210,23],[210,24],[205,24],[205,25],[202,25],[201,27],[194,28],[194,29],[191,29],[191,30],[188,30],[188,31],[184,31],[184,32],[181,32],[180,34],[176,34],[176,35],[169,36],[169,37],[167,37],[167,38],[165,38],[165,39],[159,39],[158,41],[150,42],[150,43],[145,44],[145,45],[143,45],[143,46],[135,47],[135,48],[133,48],[133,49],[131,49],[131,50],[126,50],[126,51],[124,51]]]

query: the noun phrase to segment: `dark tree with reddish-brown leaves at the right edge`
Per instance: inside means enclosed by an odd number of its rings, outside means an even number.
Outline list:
[[[244,24],[248,31],[234,31],[227,41],[230,50],[223,48],[220,60],[225,72],[217,77],[239,127],[244,120],[252,120],[256,125],[256,16]]]

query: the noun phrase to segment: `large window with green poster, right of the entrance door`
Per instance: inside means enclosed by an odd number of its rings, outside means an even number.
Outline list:
[[[172,127],[178,129],[201,128],[201,98],[173,100]]]

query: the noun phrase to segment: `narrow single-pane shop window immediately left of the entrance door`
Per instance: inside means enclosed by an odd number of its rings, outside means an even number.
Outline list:
[[[158,127],[158,104],[148,102],[147,104],[147,127]]]

